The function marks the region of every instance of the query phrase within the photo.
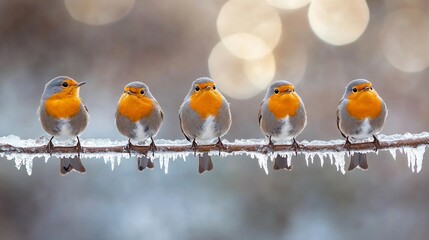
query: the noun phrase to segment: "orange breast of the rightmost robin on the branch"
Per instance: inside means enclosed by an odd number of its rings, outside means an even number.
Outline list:
[[[353,99],[349,98],[347,112],[356,119],[377,118],[382,111],[382,102],[375,91],[359,93]]]

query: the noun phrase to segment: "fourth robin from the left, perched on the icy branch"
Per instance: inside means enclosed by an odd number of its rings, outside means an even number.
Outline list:
[[[275,143],[293,140],[295,153],[299,144],[295,137],[304,130],[307,114],[304,103],[295,92],[295,87],[288,81],[280,80],[272,83],[265,94],[259,108],[259,127],[269,139],[272,149]],[[291,170],[287,157],[278,155],[274,161],[274,170]]]

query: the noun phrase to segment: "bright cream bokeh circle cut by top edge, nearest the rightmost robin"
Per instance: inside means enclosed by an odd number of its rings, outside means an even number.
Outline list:
[[[365,0],[313,0],[308,19],[320,39],[345,45],[356,41],[365,31],[369,9]]]

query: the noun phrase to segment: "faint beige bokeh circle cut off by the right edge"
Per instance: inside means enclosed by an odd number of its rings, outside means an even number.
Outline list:
[[[380,32],[380,46],[387,60],[404,72],[429,66],[429,17],[418,9],[390,13]]]

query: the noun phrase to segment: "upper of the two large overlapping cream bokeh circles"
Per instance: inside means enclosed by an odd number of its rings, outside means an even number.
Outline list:
[[[282,23],[276,10],[265,1],[233,0],[220,10],[217,30],[225,47],[235,56],[256,59],[277,45]],[[235,37],[229,38],[232,35]],[[256,50],[251,54],[243,51],[252,48]]]

